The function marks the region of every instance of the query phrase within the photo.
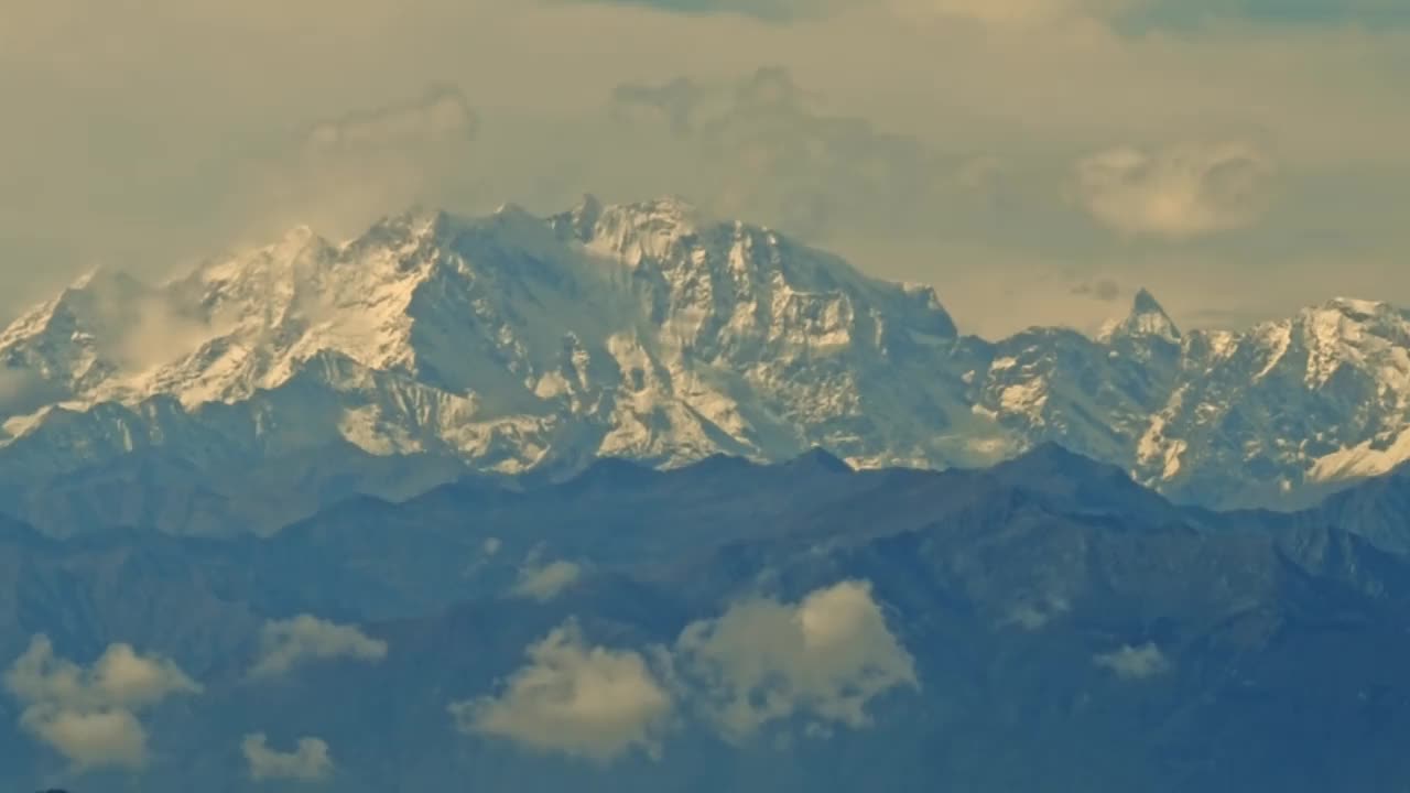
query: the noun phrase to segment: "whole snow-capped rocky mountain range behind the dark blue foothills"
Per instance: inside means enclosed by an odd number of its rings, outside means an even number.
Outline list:
[[[1182,333],[1142,291],[1096,339],[987,341],[773,230],[588,198],[296,229],[159,285],[97,271],[0,333],[0,470],[27,476],[345,443],[499,473],[814,446],[952,467],[1045,440],[1186,501],[1306,501],[1410,459],[1410,313]]]

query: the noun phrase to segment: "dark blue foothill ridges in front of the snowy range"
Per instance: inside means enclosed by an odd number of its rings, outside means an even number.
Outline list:
[[[51,689],[16,662],[0,783],[1390,790],[1410,557],[1403,523],[1355,529],[1407,492],[1221,514],[1041,444],[939,473],[815,450],[471,474],[262,539],[8,522],[0,658],[100,670],[124,643],[186,677],[134,710],[141,763],[80,766],[27,727]]]

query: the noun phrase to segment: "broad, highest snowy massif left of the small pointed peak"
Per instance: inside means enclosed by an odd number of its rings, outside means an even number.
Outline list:
[[[601,433],[592,454],[788,456],[833,432],[856,452],[847,428],[870,387],[838,374],[819,398],[791,380],[814,360],[881,370],[893,346],[924,363],[955,339],[933,289],[712,223],[674,196],[588,196],[547,219],[513,205],[479,219],[413,209],[338,246],[299,227],[161,286],[131,284],[141,301],[107,301],[128,306],[121,323],[34,343],[10,333],[0,354],[62,384],[80,411],[155,398],[234,409],[314,389],[340,440],[471,459],[499,449],[509,466],[550,444],[582,456],[553,440],[565,422],[596,428],[570,433]],[[792,422],[836,428],[799,436]]]

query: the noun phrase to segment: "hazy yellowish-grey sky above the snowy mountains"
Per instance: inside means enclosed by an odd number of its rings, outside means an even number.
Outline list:
[[[4,0],[0,315],[413,203],[680,193],[962,327],[1410,305],[1403,0]]]

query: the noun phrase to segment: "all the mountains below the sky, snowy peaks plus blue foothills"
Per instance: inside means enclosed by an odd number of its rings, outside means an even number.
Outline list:
[[[1410,315],[962,334],[677,199],[0,332],[0,789],[1410,780]]]

